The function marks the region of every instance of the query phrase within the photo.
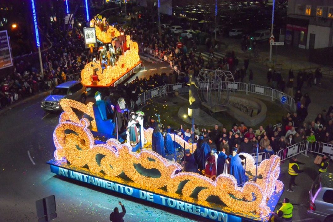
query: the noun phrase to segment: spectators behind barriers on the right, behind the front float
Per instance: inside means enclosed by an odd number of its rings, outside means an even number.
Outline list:
[[[152,126],[153,123],[154,121],[150,122]],[[265,152],[269,155],[283,150],[279,154],[285,159],[287,147],[306,140],[333,144],[333,105],[325,116],[318,114],[315,121],[311,123],[300,120],[296,112],[293,114],[288,112],[282,117],[281,124],[275,126],[269,124],[265,128],[260,126],[259,129],[245,126],[244,123],[234,124],[231,127],[216,124],[213,129],[199,129],[199,126],[194,124],[194,130],[192,127],[184,128],[182,125],[178,129],[166,127],[168,133],[175,130],[189,143],[192,142],[193,133],[194,140],[204,136],[211,149],[218,151],[225,149],[227,155],[232,153],[233,147],[238,149],[238,153],[249,154],[255,153],[258,147],[259,153]]]

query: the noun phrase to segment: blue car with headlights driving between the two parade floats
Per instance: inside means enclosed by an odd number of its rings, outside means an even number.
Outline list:
[[[41,107],[45,111],[59,111],[60,100],[73,99],[85,103],[87,98],[86,87],[79,81],[68,81],[57,85],[49,96],[42,100]]]

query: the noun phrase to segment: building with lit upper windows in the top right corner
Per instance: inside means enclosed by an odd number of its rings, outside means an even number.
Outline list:
[[[333,47],[333,1],[288,0],[285,44],[302,49]]]

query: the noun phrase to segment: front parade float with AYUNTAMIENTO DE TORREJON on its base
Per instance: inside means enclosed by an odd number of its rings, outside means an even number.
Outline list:
[[[120,143],[114,117],[122,118],[126,109],[122,99],[114,106],[101,100],[98,92],[95,98],[95,104],[86,105],[69,99],[60,101],[64,112],[53,133],[56,150],[54,159],[48,162],[51,172],[215,221],[268,221],[283,191],[283,183],[278,180],[278,156],[272,155],[256,167],[251,155],[240,153],[246,164],[238,162],[236,174],[243,173],[247,181],[239,181],[240,177],[231,172],[214,179],[186,172],[178,164],[180,161],[168,160],[156,149],[160,131],[143,128],[140,118],[144,113],[131,113],[129,123],[123,126],[129,132],[124,136],[127,142]],[[74,110],[84,115],[78,116]],[[184,149],[193,149],[194,153],[201,149],[177,135],[169,135]],[[138,146],[141,149],[136,149]],[[239,157],[233,152],[229,158],[231,170],[237,164],[234,158]]]

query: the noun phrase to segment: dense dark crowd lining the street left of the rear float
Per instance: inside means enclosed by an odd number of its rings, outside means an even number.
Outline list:
[[[48,29],[46,36],[52,48],[42,57],[44,77],[37,57],[35,62],[24,58],[15,60],[14,75],[0,79],[0,108],[73,79],[71,74],[80,72],[87,62],[98,56],[85,50],[79,29],[71,29],[67,35],[59,27]]]

